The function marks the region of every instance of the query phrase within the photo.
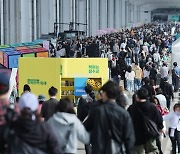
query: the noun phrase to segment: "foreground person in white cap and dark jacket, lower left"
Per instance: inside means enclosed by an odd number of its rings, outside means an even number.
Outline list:
[[[41,123],[38,99],[25,93],[19,100],[21,116],[6,129],[9,154],[61,154],[61,148],[50,126]],[[8,131],[9,130],[9,131]]]

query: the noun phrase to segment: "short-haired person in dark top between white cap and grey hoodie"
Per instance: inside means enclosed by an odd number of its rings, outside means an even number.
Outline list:
[[[48,93],[49,93],[50,99],[48,101],[45,101],[42,104],[42,108],[41,108],[41,116],[44,118],[44,121],[47,121],[50,117],[53,116],[56,105],[58,103],[56,99],[58,90],[55,87],[51,87],[49,88]]]

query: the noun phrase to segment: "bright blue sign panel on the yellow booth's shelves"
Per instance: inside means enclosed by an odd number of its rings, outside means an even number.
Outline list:
[[[88,78],[75,78],[74,79],[74,95],[82,96],[85,95],[85,86]]]

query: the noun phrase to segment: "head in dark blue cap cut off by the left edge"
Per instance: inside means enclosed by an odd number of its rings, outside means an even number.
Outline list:
[[[5,73],[0,73],[0,95],[4,95],[9,90],[9,77]]]

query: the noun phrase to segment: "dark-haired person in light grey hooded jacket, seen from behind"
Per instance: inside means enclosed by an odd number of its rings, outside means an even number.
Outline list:
[[[68,99],[61,99],[57,105],[57,113],[47,123],[58,138],[62,151],[76,154],[78,140],[89,144],[90,136],[81,121],[77,118],[73,103]]]

